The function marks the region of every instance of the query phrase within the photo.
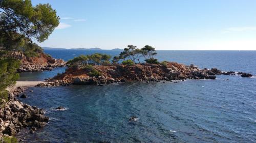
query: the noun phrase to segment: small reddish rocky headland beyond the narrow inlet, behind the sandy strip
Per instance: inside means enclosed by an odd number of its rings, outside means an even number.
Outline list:
[[[54,59],[45,53],[39,53],[37,57],[27,58],[23,56],[22,64],[18,68],[18,72],[38,72],[52,70],[55,67],[66,66],[66,62],[61,59]]]

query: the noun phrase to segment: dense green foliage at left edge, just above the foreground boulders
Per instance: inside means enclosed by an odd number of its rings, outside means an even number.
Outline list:
[[[16,83],[19,74],[16,72],[20,62],[15,59],[0,59],[0,98],[7,99],[5,89]]]

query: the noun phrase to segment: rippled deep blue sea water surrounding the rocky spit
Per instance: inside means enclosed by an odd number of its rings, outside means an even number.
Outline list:
[[[54,58],[120,51],[45,50]],[[216,80],[33,87],[25,103],[46,110],[48,125],[27,142],[256,142],[256,51],[157,51],[160,61],[252,73]],[[65,68],[24,73],[43,79]],[[33,75],[31,75],[33,74]],[[29,78],[30,77],[30,78]],[[66,110],[54,110],[64,106]],[[138,119],[129,122],[130,117]]]

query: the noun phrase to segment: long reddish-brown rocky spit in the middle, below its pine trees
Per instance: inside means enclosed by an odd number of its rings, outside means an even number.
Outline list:
[[[133,66],[110,65],[93,66],[100,75],[90,74],[91,69],[85,67],[70,67],[65,73],[49,79],[48,83],[37,84],[38,87],[51,87],[71,84],[106,84],[126,81],[172,81],[184,79],[216,79],[216,75],[235,75],[233,71],[222,72],[217,68],[199,69],[194,65],[186,66],[174,62],[165,65],[137,64]],[[242,73],[244,75],[245,73]],[[244,76],[242,76],[244,77]]]

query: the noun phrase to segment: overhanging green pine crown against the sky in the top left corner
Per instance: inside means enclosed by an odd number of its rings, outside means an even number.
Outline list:
[[[56,11],[49,4],[32,6],[31,0],[0,1],[1,26],[5,32],[15,32],[38,42],[45,41],[59,24]]]

